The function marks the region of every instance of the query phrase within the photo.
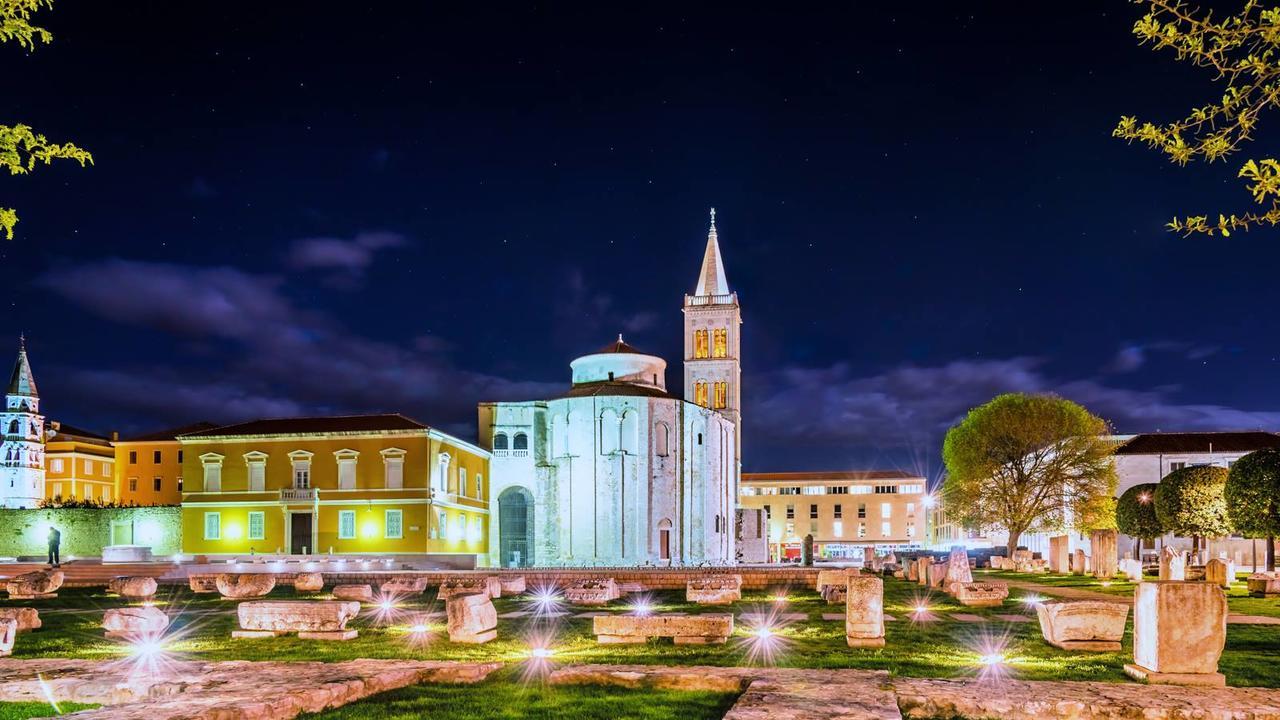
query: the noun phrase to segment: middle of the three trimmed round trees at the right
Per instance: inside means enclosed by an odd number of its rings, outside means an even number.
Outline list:
[[[1156,486],[1156,518],[1165,532],[1196,541],[1231,534],[1226,516],[1226,468],[1196,465],[1165,475]]]

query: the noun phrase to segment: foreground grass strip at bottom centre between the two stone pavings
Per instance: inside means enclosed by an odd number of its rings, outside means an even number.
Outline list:
[[[475,685],[413,685],[310,720],[718,720],[736,693],[628,689],[603,685],[522,684],[492,678]],[[442,708],[448,708],[442,712]]]

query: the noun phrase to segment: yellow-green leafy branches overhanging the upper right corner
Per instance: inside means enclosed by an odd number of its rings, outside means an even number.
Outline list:
[[[1193,108],[1187,117],[1165,124],[1124,115],[1112,135],[1164,152],[1179,165],[1201,159],[1225,160],[1253,131],[1263,110],[1280,104],[1280,8],[1247,0],[1235,13],[1201,12],[1180,0],[1134,0],[1147,14],[1133,33],[1153,50],[1169,50],[1180,61],[1207,68],[1225,85],[1217,101]],[[1280,161],[1247,160],[1236,177],[1248,181],[1262,211],[1174,218],[1169,228],[1184,234],[1221,233],[1280,223]]]

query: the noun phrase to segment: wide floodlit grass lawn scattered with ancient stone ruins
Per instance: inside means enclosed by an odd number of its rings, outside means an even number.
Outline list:
[[[1014,578],[1012,574],[1009,574]],[[1032,579],[1032,578],[1028,578]],[[1052,577],[1052,582],[1059,582]],[[1036,577],[1044,582],[1044,577]],[[1084,582],[1083,578],[1062,582]],[[1044,583],[1051,584],[1051,583]],[[1132,591],[1130,591],[1132,592]],[[296,638],[232,639],[236,628],[232,601],[218,596],[192,594],[186,588],[163,588],[170,593],[163,602],[170,614],[177,612],[169,650],[195,660],[319,660],[339,661],[357,657],[415,660],[499,660],[521,662],[527,659],[530,642],[547,643],[556,662],[563,664],[664,664],[664,665],[763,665],[792,667],[861,667],[887,670],[892,674],[929,678],[964,678],[977,673],[982,655],[1000,650],[1009,659],[1010,674],[1033,680],[1105,680],[1124,682],[1123,665],[1132,659],[1132,637],[1126,633],[1124,647],[1114,653],[1070,653],[1043,642],[1034,614],[1019,602],[1025,593],[1011,592],[1002,609],[973,609],[954,602],[942,593],[928,593],[914,583],[886,579],[884,611],[896,618],[886,623],[887,646],[882,650],[852,650],[845,643],[842,621],[822,620],[823,612],[842,612],[842,606],[828,606],[809,588],[792,588],[787,602],[773,602],[773,593],[748,592],[744,600],[728,609],[708,609],[684,601],[682,592],[653,593],[658,612],[799,612],[804,621],[776,623],[777,643],[772,652],[760,652],[750,623],[739,619],[735,635],[723,646],[675,646],[671,641],[654,641],[637,646],[598,644],[591,634],[591,620],[566,616],[556,620],[502,619],[498,639],[483,646],[452,644],[444,634],[443,618],[429,620],[425,641],[408,632],[426,611],[442,610],[429,591],[410,598],[385,618],[366,606],[352,626],[360,637],[351,642],[314,642]],[[87,610],[42,612],[44,629],[19,635],[14,657],[84,657],[116,659],[127,652],[120,643],[102,637],[102,611],[123,602],[101,591],[64,589],[51,601],[32,601],[41,609]],[[291,587],[278,588],[273,598],[296,597]],[[316,596],[319,597],[319,596]],[[1251,598],[1239,598],[1249,601]],[[1235,602],[1235,601],[1233,601]],[[1274,606],[1274,600],[1267,601]],[[924,603],[943,619],[915,623],[913,609]],[[5,601],[3,605],[8,605]],[[525,610],[521,598],[495,601],[499,612]],[[594,609],[566,609],[570,612]],[[1234,610],[1234,607],[1233,607]],[[626,606],[608,611],[625,612]],[[963,623],[954,612],[992,618],[995,614],[1029,615],[1029,623],[995,619],[989,623]],[[1132,630],[1130,630],[1132,633]],[[1231,625],[1221,670],[1233,685],[1280,687],[1280,666],[1271,660],[1280,647],[1280,626]]]

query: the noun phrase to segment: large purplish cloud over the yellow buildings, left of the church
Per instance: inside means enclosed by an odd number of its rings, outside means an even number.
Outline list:
[[[54,270],[40,283],[105,319],[212,342],[212,373],[183,359],[120,373],[76,373],[95,401],[172,421],[404,411],[428,423],[474,428],[477,401],[562,389],[561,383],[458,368],[452,343],[435,336],[415,337],[407,347],[361,337],[329,315],[294,305],[273,275],[104,260]]]

